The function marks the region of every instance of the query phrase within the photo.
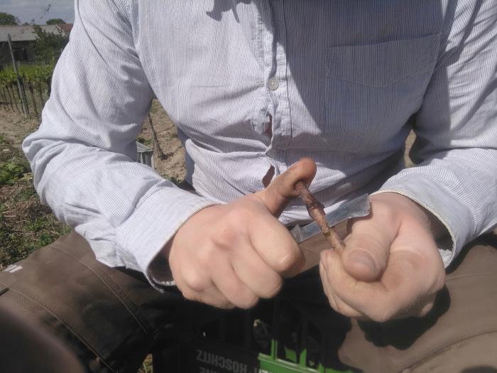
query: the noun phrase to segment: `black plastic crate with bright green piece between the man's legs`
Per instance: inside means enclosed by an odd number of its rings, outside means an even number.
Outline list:
[[[230,311],[204,325],[168,362],[156,364],[156,358],[155,373],[351,372],[317,325],[279,298],[252,310]]]

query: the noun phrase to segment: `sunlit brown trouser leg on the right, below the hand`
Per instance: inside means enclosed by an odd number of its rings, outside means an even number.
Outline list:
[[[496,247],[495,236],[469,244],[425,318],[354,321],[339,350],[342,361],[365,372],[496,372]]]

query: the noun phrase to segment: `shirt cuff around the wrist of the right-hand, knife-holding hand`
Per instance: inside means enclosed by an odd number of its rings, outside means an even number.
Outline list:
[[[422,173],[394,176],[373,195],[387,192],[410,198],[442,222],[452,239],[452,245],[437,241],[439,253],[447,268],[464,244],[471,239],[472,222],[469,209],[449,190],[441,187],[438,180]]]

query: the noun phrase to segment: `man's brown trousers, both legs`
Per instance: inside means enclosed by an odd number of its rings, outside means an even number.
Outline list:
[[[339,359],[364,372],[497,372],[496,247],[493,235],[469,244],[425,318],[344,318],[312,271],[285,283],[280,297],[318,328],[334,325]],[[148,352],[185,342],[217,313],[176,288],[159,293],[137,272],[100,264],[74,232],[17,266],[0,273],[0,306],[50,330],[89,372],[134,373]]]

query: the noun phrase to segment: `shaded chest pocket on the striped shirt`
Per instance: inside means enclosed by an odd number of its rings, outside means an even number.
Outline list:
[[[390,141],[419,109],[438,48],[438,35],[329,48],[322,129],[328,144],[369,152]]]

